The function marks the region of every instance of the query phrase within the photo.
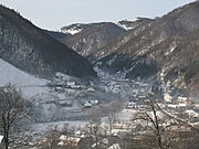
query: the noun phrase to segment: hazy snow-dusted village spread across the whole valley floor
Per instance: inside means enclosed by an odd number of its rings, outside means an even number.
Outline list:
[[[187,146],[197,147],[199,141],[192,132],[199,135],[199,104],[195,98],[161,94],[161,88],[150,86],[138,81],[112,79],[96,88],[57,73],[49,84],[53,96],[42,94],[46,99],[35,104],[40,109],[35,108],[35,124],[12,136],[13,148],[145,149],[146,140],[158,138],[154,130],[161,138],[174,137],[167,142],[169,146],[184,140]],[[113,96],[115,99],[108,100]],[[45,128],[39,129],[40,125]]]

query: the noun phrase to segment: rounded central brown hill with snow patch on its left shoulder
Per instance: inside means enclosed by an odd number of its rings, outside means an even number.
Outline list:
[[[90,61],[98,49],[126,33],[126,30],[112,22],[72,24],[62,28],[61,31],[67,34],[71,33],[71,36],[66,36],[62,42]]]

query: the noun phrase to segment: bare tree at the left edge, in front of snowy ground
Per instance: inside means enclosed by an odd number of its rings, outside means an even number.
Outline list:
[[[11,85],[0,88],[0,126],[3,132],[4,148],[9,148],[11,128],[15,123],[28,118],[32,103],[25,100],[22,94]]]

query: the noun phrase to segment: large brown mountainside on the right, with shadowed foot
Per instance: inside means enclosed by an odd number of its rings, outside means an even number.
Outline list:
[[[196,1],[139,25],[103,47],[95,55],[101,57],[96,66],[130,78],[156,74],[175,87],[198,91],[198,36],[199,1]]]

